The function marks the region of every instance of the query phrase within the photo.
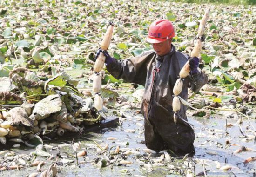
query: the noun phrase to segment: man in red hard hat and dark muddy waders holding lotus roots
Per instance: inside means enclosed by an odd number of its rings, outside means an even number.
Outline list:
[[[188,56],[177,52],[172,45],[175,31],[169,20],[156,20],[148,30],[147,41],[155,51],[149,51],[133,59],[116,60],[106,56],[106,67],[116,79],[145,86],[141,113],[145,118],[145,144],[149,149],[162,151],[169,149],[177,156],[195,153],[195,134],[187,122],[187,107],[181,104],[180,118],[176,125],[173,119],[173,87],[179,72],[188,61]],[[207,83],[205,74],[198,68],[199,59],[190,58],[190,75],[184,79],[180,96],[187,100],[188,87],[194,92]]]

